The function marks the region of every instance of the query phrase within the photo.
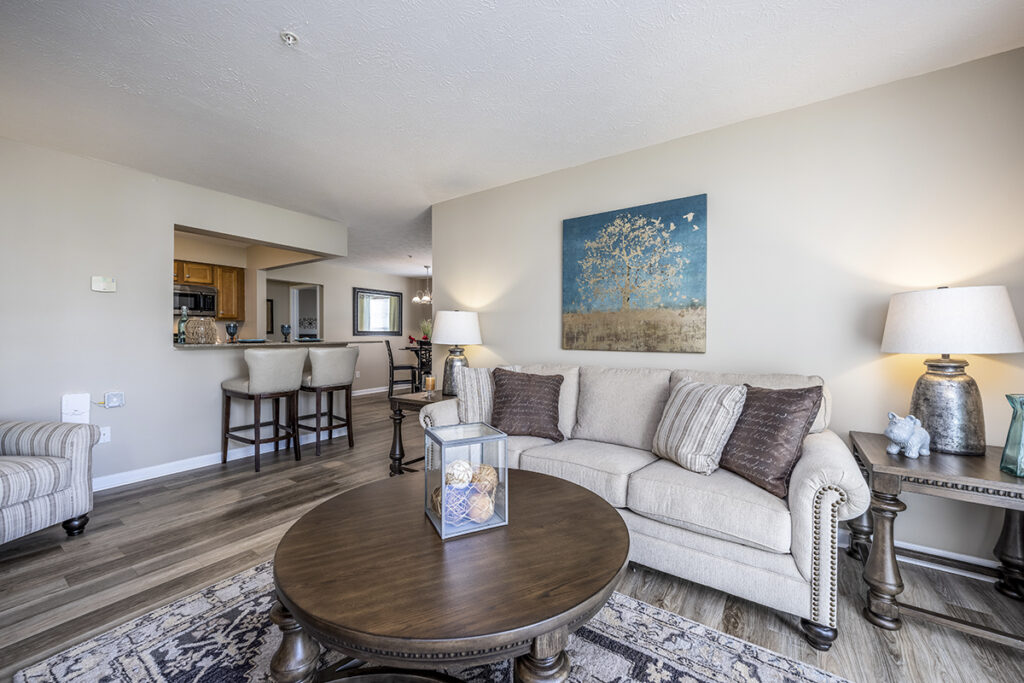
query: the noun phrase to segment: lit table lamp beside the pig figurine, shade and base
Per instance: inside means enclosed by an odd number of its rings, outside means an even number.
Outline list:
[[[961,456],[985,453],[985,415],[978,384],[950,353],[1021,353],[1010,294],[1002,286],[940,287],[894,294],[882,335],[886,353],[941,353],[925,360],[910,415],[932,437],[932,450]]]

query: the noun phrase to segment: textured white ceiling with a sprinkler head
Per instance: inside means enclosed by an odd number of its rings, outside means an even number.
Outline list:
[[[0,135],[418,275],[433,203],[1022,44],[1021,0],[3,0]]]

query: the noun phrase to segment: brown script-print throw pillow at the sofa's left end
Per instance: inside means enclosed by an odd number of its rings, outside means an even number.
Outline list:
[[[540,436],[561,441],[558,396],[561,375],[529,375],[495,368],[495,410],[490,424],[509,436]]]

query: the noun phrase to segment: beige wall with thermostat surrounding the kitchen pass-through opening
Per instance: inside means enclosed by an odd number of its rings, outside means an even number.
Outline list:
[[[338,223],[113,164],[0,139],[0,419],[59,419],[60,395],[125,392],[96,475],[219,451],[220,381],[240,351],[170,344],[173,226],[344,253]],[[90,291],[113,275],[115,294]],[[246,283],[249,286],[249,283]]]

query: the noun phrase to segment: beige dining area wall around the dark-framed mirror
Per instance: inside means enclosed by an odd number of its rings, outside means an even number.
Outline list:
[[[418,287],[422,288],[422,284],[418,285],[419,281],[352,268],[345,264],[344,259],[276,268],[270,271],[270,276],[324,286],[324,317],[321,336],[325,339],[383,341],[385,337],[354,337],[352,335],[352,288],[362,287],[403,293],[401,313],[404,333],[401,337],[387,337],[386,339],[391,341],[395,362],[412,364],[415,361],[411,352],[398,349],[409,345],[408,335],[420,336],[420,321],[424,317],[430,317],[431,314],[429,306],[412,303],[416,290]],[[357,369],[359,377],[352,385],[354,389],[387,386],[387,353],[384,344],[360,344]]]

